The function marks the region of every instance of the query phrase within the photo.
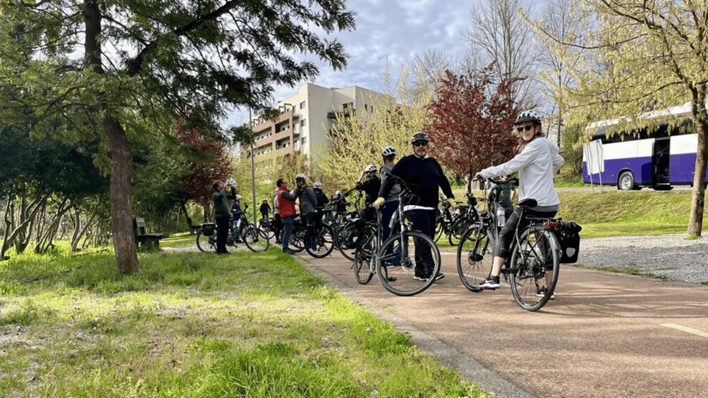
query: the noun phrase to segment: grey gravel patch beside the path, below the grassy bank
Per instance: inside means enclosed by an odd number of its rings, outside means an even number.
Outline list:
[[[674,281],[708,281],[708,239],[685,235],[581,238],[578,264],[639,269]]]

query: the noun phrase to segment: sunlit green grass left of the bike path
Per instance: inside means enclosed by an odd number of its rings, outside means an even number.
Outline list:
[[[476,397],[270,250],[13,255],[0,263],[4,397]]]

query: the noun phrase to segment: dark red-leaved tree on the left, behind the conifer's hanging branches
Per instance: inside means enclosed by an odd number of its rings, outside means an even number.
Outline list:
[[[190,151],[188,175],[182,177],[179,194],[188,225],[193,225],[186,209],[188,201],[204,206],[207,221],[212,200],[212,182],[226,180],[232,173],[229,147],[224,141],[201,134],[198,129],[188,129],[178,135],[179,141]]]

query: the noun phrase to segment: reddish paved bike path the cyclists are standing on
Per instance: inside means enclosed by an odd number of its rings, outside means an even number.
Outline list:
[[[455,253],[445,279],[413,297],[351,262],[299,259],[445,365],[506,397],[708,397],[708,286],[563,266],[556,300],[522,310],[510,288],[472,293]]]

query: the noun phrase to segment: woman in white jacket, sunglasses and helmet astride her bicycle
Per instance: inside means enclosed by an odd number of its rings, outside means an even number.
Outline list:
[[[537,206],[529,209],[528,216],[542,218],[554,217],[558,212],[561,201],[553,185],[553,175],[560,170],[563,165],[563,157],[560,156],[558,146],[547,139],[541,129],[541,118],[536,112],[527,110],[521,112],[514,122],[516,132],[521,137],[520,151],[518,155],[501,165],[492,166],[477,172],[477,180],[484,181],[486,178],[500,175],[510,175],[519,172],[519,201],[524,199],[536,199]],[[520,208],[514,209],[507,218],[504,227],[499,234],[496,253],[489,277],[481,284],[484,288],[498,288],[499,274],[506,257],[509,255],[509,246],[513,240],[516,226],[525,228],[526,220],[520,220]],[[548,281],[547,273],[547,281]],[[543,295],[544,291],[539,290],[537,295]],[[554,297],[551,296],[553,299]]]

